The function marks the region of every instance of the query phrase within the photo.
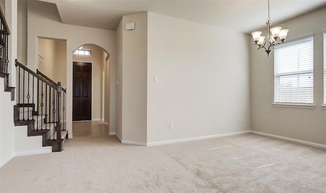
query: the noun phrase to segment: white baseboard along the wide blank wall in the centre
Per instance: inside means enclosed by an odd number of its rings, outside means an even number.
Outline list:
[[[239,131],[239,132],[223,133],[223,134],[216,134],[216,135],[206,135],[206,136],[200,136],[200,137],[191,137],[191,138],[183,138],[183,139],[173,139],[173,140],[166,140],[166,141],[150,142],[150,143],[147,143],[147,146],[158,146],[158,145],[162,145],[162,144],[197,141],[197,140],[202,140],[202,139],[226,137],[226,136],[240,135],[240,134],[246,134],[246,133],[250,133],[250,131],[248,130],[248,131]]]

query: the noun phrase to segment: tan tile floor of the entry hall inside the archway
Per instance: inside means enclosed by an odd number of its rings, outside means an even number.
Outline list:
[[[72,122],[73,137],[107,135],[108,125],[102,121]]]

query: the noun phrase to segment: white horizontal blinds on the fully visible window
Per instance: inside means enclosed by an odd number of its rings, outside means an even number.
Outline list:
[[[313,36],[276,46],[274,102],[313,103]]]

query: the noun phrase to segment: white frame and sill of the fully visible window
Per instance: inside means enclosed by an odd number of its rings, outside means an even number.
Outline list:
[[[312,38],[312,42],[314,43],[314,34],[308,34],[305,36],[301,36],[298,38],[293,38],[290,39],[288,41],[286,41],[285,43],[289,43],[289,44],[295,44],[295,41],[300,41],[300,40],[304,40],[304,39],[308,39],[308,38]],[[299,43],[299,42],[298,42]],[[286,44],[284,45],[280,45],[281,46],[286,46]],[[278,46],[275,47],[275,49],[277,49]],[[315,105],[314,105],[314,45],[312,46],[312,55],[313,55],[313,61],[312,61],[312,103],[286,103],[286,102],[276,102],[276,76],[277,74],[275,73],[275,68],[276,68],[276,64],[275,64],[275,52],[274,52],[274,102],[273,102],[273,107],[285,107],[285,108],[305,108],[305,109],[314,109]],[[307,74],[309,73],[309,71],[307,70]],[[293,71],[291,73],[288,73],[287,76],[293,76],[296,73]],[[285,75],[286,76],[286,75]],[[284,77],[285,77],[284,76]]]

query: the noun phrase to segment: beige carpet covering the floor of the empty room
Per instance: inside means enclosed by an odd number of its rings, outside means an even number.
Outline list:
[[[1,192],[326,192],[326,150],[236,135],[155,147],[76,137],[64,151],[15,157]]]

